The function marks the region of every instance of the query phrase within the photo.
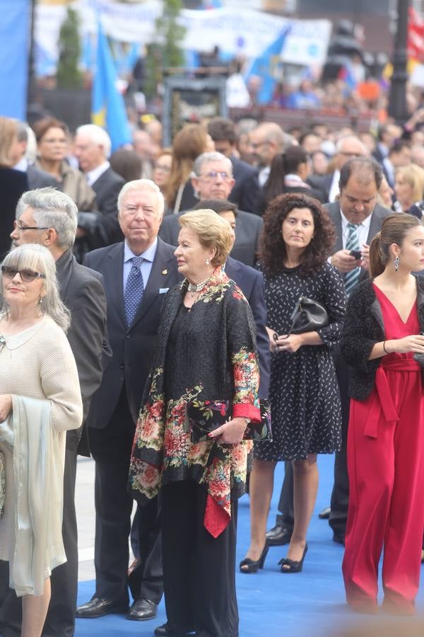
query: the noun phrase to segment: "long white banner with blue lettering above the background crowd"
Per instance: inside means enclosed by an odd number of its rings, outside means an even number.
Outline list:
[[[107,35],[122,42],[146,44],[155,38],[155,19],[162,12],[160,0],[119,4],[112,0],[79,0],[71,5],[80,13],[82,35],[97,33],[100,16]],[[35,40],[49,57],[57,59],[57,40],[66,8],[36,5]],[[287,23],[292,29],[282,52],[283,62],[320,66],[324,63],[331,35],[328,20],[291,20],[263,11],[235,7],[192,11],[183,9],[181,23],[187,29],[183,47],[210,52],[218,46],[228,54],[247,58],[261,55]]]

